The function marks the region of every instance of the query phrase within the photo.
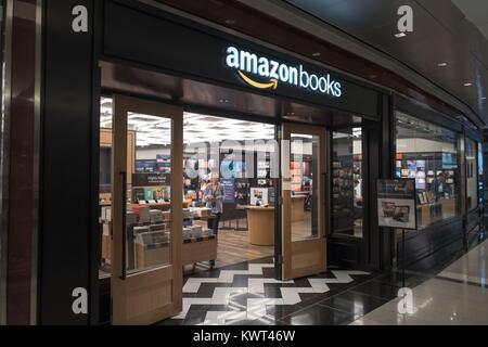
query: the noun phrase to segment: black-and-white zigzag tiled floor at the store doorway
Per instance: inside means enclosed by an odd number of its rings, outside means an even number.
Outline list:
[[[270,257],[242,262],[187,278],[183,311],[160,324],[347,324],[386,303],[349,291],[374,277],[331,268],[282,282]]]

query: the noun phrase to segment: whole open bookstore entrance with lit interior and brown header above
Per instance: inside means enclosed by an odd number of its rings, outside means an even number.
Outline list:
[[[335,255],[345,253],[332,232],[338,226],[331,223],[330,216],[335,204],[330,198],[334,172],[330,168],[325,175],[325,169],[333,160],[335,138],[328,129],[338,128],[336,123],[354,125],[359,117],[124,65],[102,62],[101,67],[105,95],[100,117],[102,226],[101,252],[97,254],[101,322],[110,320],[111,298],[114,314],[115,305],[133,304],[132,288],[127,286],[132,271],[145,275],[146,269],[156,271],[178,262],[181,282],[171,294],[175,297],[182,294],[188,278],[213,278],[215,268],[241,270],[249,262],[265,264],[271,268],[266,275],[285,280],[320,273],[328,264],[337,264]],[[177,123],[167,114],[128,110],[123,116],[127,118],[125,142],[119,142],[125,143],[125,152],[115,154],[119,134],[113,125],[119,119],[113,115],[113,94],[157,100],[160,107],[175,105],[180,132],[169,136]],[[179,151],[176,140],[181,141]],[[357,142],[348,141],[346,150]],[[118,194],[126,194],[118,201],[113,200],[113,184],[121,187],[123,177],[113,169],[116,164],[126,167],[128,188],[117,189]],[[377,167],[377,163],[371,164]],[[179,195],[181,202],[175,204],[174,197]],[[121,202],[126,202],[125,209]],[[118,231],[112,227],[116,215],[112,208],[119,209],[119,218],[126,211],[126,234],[121,221]],[[360,216],[338,217],[344,223],[354,220],[355,232],[361,227],[357,223]],[[364,218],[364,226],[367,221]],[[365,240],[369,229],[362,230]],[[358,244],[355,239],[354,246]],[[350,265],[348,268],[356,267]],[[123,269],[126,280],[120,279]],[[176,280],[168,279],[171,287]],[[124,314],[120,322],[131,319]]]

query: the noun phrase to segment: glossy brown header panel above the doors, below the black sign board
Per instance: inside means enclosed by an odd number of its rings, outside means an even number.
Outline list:
[[[104,94],[121,93],[154,99],[195,113],[211,113],[216,116],[261,123],[278,124],[282,117],[290,121],[330,127],[338,123],[354,124],[355,118],[361,119],[348,113],[291,102],[283,98],[265,97],[142,68],[108,62],[100,62],[100,66]]]

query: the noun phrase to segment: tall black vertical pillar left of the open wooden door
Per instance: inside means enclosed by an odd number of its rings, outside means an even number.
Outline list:
[[[93,17],[88,33],[72,30],[73,8],[93,1],[46,1],[41,150],[40,324],[98,320],[90,290],[97,254],[98,102],[94,102]],[[94,174],[97,172],[97,174]],[[98,240],[98,237],[95,239]],[[88,291],[88,314],[75,313],[75,288]]]

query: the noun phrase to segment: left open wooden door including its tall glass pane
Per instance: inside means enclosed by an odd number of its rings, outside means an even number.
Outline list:
[[[113,115],[112,323],[151,324],[182,306],[183,111],[115,95]]]

